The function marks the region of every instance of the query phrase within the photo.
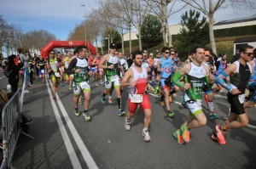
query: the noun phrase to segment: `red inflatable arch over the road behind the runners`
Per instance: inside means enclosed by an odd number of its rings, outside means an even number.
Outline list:
[[[90,42],[86,41],[86,43],[90,54],[96,54],[96,48]],[[53,48],[77,48],[79,46],[85,46],[85,41],[51,41],[42,48],[41,55],[46,59],[49,51]]]

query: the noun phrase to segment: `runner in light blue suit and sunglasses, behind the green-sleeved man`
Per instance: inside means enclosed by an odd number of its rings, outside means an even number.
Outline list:
[[[173,117],[174,113],[170,109],[170,102],[169,102],[169,92],[172,87],[171,76],[172,76],[172,59],[170,58],[170,48],[164,47],[162,48],[163,57],[158,61],[158,70],[160,73],[160,85],[162,87],[161,90],[161,99],[160,105],[165,106],[166,103],[166,110],[167,116]]]

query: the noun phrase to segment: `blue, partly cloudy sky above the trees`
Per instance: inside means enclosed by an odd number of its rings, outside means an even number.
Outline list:
[[[0,15],[9,24],[18,25],[23,31],[46,30],[58,40],[67,40],[70,31],[84,20],[84,13],[97,8],[96,0],[0,0]],[[82,7],[81,5],[84,5]],[[233,8],[224,8],[215,15],[215,21],[233,20],[256,14],[256,2],[253,10],[234,13]],[[178,24],[185,10],[173,14],[169,25]]]

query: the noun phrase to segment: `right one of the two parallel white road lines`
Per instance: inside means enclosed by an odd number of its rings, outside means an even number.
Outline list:
[[[52,87],[52,83],[51,82],[49,82],[49,83],[50,83],[50,86]],[[59,107],[61,109],[62,115],[64,116],[65,121],[67,121],[67,126],[69,127],[69,130],[71,131],[73,138],[74,138],[76,144],[78,145],[81,154],[84,157],[84,161],[86,162],[86,164],[89,168],[97,169],[98,166],[96,165],[96,162],[93,160],[92,156],[90,155],[89,150],[84,145],[82,138],[79,136],[79,132],[73,126],[73,122],[70,120],[70,118],[67,114],[67,110],[64,108],[64,106],[61,102],[61,99],[59,98],[59,95],[57,93],[55,95],[57,98],[57,103],[59,104]],[[71,102],[71,103],[73,103],[73,102]]]

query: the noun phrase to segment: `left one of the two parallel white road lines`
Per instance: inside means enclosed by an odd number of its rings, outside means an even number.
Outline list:
[[[72,166],[73,166],[73,168],[82,169],[82,166],[79,162],[79,158],[78,158],[78,156],[76,155],[76,153],[73,149],[73,145],[71,144],[70,139],[68,138],[66,128],[64,127],[63,122],[61,121],[61,115],[59,113],[59,110],[57,109],[57,106],[55,104],[55,100],[52,99],[52,93],[51,93],[51,90],[49,88],[49,84],[46,83],[46,85],[47,85],[47,89],[48,89],[48,93],[49,93],[50,103],[51,103],[51,105],[53,107],[53,110],[55,112],[55,117],[56,117],[56,120],[57,120],[58,125],[60,127],[61,136],[64,140],[64,144],[66,146],[67,153],[68,153],[69,158],[71,160]]]

